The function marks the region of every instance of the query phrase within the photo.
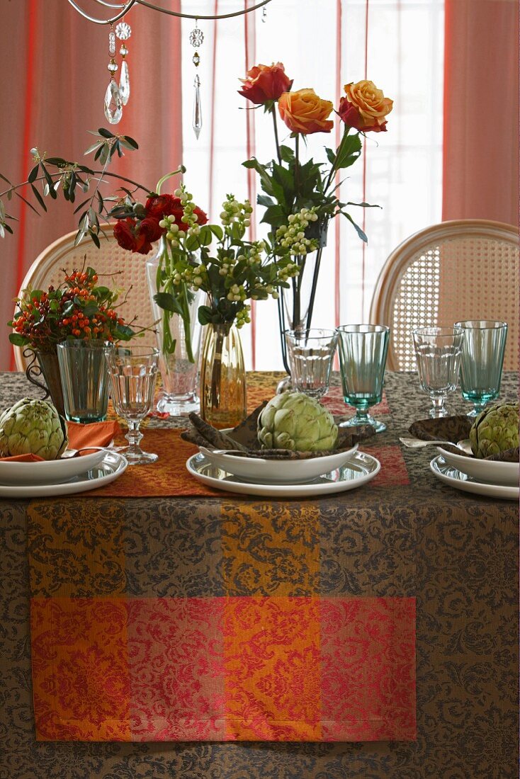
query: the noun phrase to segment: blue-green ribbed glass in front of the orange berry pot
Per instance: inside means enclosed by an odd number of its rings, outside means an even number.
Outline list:
[[[107,418],[108,376],[104,359],[109,341],[74,339],[58,344],[65,418],[100,422]]]

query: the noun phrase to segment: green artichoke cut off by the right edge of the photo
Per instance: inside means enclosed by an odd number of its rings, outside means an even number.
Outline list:
[[[518,403],[481,411],[469,431],[472,453],[483,459],[518,446]]]

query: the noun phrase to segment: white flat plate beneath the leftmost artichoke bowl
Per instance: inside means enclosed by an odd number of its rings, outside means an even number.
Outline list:
[[[83,468],[82,473],[58,484],[0,485],[0,498],[50,498],[55,495],[85,492],[107,485],[126,471],[128,463],[118,452],[106,451],[102,452],[102,455],[101,463],[94,465],[88,471]],[[86,459],[87,457],[78,458],[78,460]]]

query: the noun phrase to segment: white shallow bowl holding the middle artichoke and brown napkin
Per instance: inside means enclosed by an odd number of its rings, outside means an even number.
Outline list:
[[[241,457],[232,454],[217,454],[205,446],[199,449],[210,463],[246,481],[260,484],[302,484],[329,474],[344,465],[358,445],[345,452],[336,452],[324,457],[309,457],[306,460],[262,460],[260,457]]]

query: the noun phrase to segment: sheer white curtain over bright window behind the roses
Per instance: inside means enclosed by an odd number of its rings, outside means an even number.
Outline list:
[[[239,0],[185,0],[182,6],[201,14],[226,13],[236,10]],[[239,199],[256,196],[241,165],[248,147],[260,161],[274,153],[270,119],[262,109],[244,110],[246,100],[236,91],[246,67],[279,60],[294,79],[293,90],[313,87],[334,107],[343,84],[363,78],[394,100],[388,132],[366,141],[364,158],[348,169],[341,188],[344,200],[381,206],[364,214],[352,210],[364,224],[368,246],[363,248],[346,220],[335,220],[313,317],[314,326],[323,327],[367,321],[377,274],[391,249],[441,218],[443,0],[273,0],[265,21],[256,11],[217,25],[200,22],[203,129],[198,140],[191,128],[195,68],[188,38],[193,26],[182,23],[183,158],[186,183],[212,220],[218,220],[228,192]],[[324,160],[323,147],[334,146],[334,131],[331,136],[309,136],[309,155]],[[258,221],[261,210],[258,206]],[[256,236],[263,230],[256,225]],[[249,368],[281,368],[272,301],[256,305],[254,326],[242,330],[242,342]]]

